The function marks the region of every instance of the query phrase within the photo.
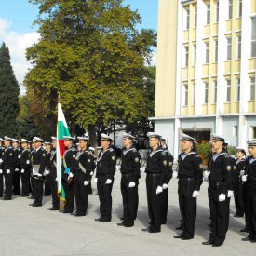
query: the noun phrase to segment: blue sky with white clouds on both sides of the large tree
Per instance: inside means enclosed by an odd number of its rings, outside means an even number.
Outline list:
[[[142,23],[138,29],[157,31],[158,0],[124,0],[132,10],[138,10]],[[29,0],[0,0],[0,43],[5,42],[10,51],[11,64],[21,90],[24,75],[31,67],[26,61],[25,49],[39,39],[37,28],[33,26],[38,15],[38,8]],[[156,49],[155,49],[156,51]],[[152,63],[155,64],[156,54]]]

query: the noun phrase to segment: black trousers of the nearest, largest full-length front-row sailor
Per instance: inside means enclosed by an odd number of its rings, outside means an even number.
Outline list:
[[[209,241],[215,244],[222,244],[225,240],[229,224],[229,202],[230,198],[225,201],[219,201],[219,195],[222,194],[222,184],[209,183],[209,211],[210,211],[210,232]]]

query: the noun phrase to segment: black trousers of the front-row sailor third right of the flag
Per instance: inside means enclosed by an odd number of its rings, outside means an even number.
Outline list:
[[[100,214],[101,218],[107,221],[111,221],[112,218],[112,187],[114,179],[111,184],[105,184],[107,178],[105,175],[98,177],[97,189],[100,199]]]

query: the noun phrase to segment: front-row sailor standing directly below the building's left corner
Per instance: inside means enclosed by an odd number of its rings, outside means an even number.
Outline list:
[[[163,157],[163,150],[160,147],[161,136],[153,132],[147,134],[149,138],[149,145],[152,149],[147,158],[147,167],[145,172],[146,188],[147,188],[147,202],[148,202],[148,215],[150,225],[142,229],[149,233],[161,232],[162,224],[162,202],[163,202],[163,183],[165,181],[164,169],[166,168]]]

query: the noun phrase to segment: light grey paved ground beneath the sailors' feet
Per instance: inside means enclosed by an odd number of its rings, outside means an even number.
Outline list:
[[[44,199],[42,208],[32,208],[27,198],[15,197],[12,201],[0,200],[0,255],[256,255],[256,245],[242,242],[245,235],[243,218],[231,217],[230,229],[220,248],[201,245],[209,238],[209,205],[207,183],[198,198],[195,239],[174,239],[175,227],[180,224],[177,180],[170,182],[168,223],[162,232],[149,234],[141,231],[148,222],[145,174],[140,184],[138,220],[132,228],[116,225],[122,214],[120,175],[115,174],[113,188],[113,221],[94,222],[98,217],[99,199],[89,195],[88,216],[74,217],[50,212],[50,197]],[[95,191],[95,184],[93,184]],[[234,215],[234,199],[231,216]]]

